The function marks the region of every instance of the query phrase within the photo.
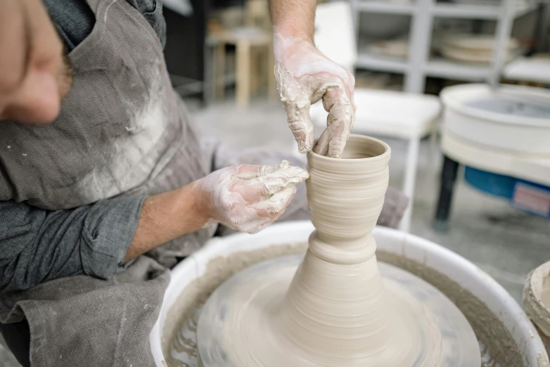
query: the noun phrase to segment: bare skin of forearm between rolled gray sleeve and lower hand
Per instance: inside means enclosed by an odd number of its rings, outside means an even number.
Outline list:
[[[205,226],[208,216],[204,214],[204,200],[193,191],[193,185],[191,183],[145,200],[134,240],[124,262]]]

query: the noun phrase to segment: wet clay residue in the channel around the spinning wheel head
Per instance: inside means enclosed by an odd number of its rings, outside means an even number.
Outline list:
[[[300,254],[306,249],[307,243],[294,243],[250,252],[237,252],[228,257],[212,259],[205,275],[193,281],[181,292],[177,302],[174,302],[174,306],[167,313],[164,330],[162,330],[162,348],[167,365],[170,367],[199,366],[193,333],[196,333],[200,307],[227,278],[252,264],[279,255]],[[523,366],[521,353],[506,327],[487,305],[462,288],[459,283],[434,269],[390,252],[378,250],[377,257],[380,261],[399,266],[428,281],[461,309],[481,342],[482,356],[484,356],[481,367]],[[188,337],[189,333],[191,337]]]

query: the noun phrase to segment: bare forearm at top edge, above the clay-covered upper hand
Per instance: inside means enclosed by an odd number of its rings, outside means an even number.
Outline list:
[[[313,42],[316,0],[269,0],[274,31]]]

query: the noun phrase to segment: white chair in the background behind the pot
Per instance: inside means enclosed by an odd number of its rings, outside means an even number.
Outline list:
[[[315,44],[328,58],[347,70],[353,70],[357,60],[357,44],[352,11],[347,1],[317,6]],[[409,140],[402,190],[411,202],[399,226],[402,231],[408,232],[411,226],[420,139],[431,134],[432,146],[435,147],[437,120],[441,112],[439,98],[398,91],[355,89],[354,100],[357,104],[354,132]],[[326,127],[327,112],[321,102],[312,105],[310,114],[316,126]]]

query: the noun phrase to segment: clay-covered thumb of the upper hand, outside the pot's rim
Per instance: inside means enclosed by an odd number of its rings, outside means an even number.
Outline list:
[[[310,106],[311,101],[305,99],[286,101],[284,103],[288,117],[288,127],[290,127],[290,131],[294,134],[300,153],[307,153],[313,148],[314,133],[312,118],[309,116]]]

